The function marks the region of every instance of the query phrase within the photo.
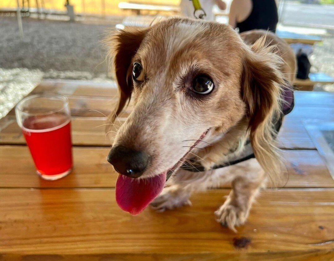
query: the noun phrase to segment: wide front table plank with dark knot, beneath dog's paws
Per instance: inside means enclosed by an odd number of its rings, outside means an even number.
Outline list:
[[[117,206],[113,189],[0,189],[0,252],[99,260],[125,253],[245,259],[259,253],[270,260],[296,251],[319,251],[321,258],[333,250],[333,189],[263,191],[238,234],[213,218],[228,193],[210,190],[192,196],[192,207],[164,213],[148,208],[131,216]],[[249,244],[240,250],[233,241],[241,238]]]

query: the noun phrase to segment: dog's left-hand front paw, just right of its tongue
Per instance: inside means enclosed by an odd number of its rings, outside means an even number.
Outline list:
[[[177,185],[172,185],[164,188],[161,194],[151,202],[151,207],[158,212],[163,212],[166,209],[174,209],[186,205],[191,206],[189,196],[189,192]]]

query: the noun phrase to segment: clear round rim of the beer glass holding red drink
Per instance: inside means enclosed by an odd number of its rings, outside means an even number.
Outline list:
[[[45,97],[45,98],[58,98],[59,100],[63,101],[63,104],[59,108],[50,109],[49,111],[46,111],[46,112],[27,112],[27,111],[22,110],[22,106],[25,102],[27,102],[31,99],[43,98],[43,97]],[[62,109],[64,109],[67,106],[68,106],[68,98],[65,95],[58,94],[58,93],[41,93],[41,94],[29,95],[29,96],[23,98],[22,100],[20,100],[16,104],[15,110],[16,110],[16,112],[19,112],[20,114],[25,114],[25,115],[30,115],[30,116],[37,116],[37,115],[53,114],[55,112],[61,111]]]

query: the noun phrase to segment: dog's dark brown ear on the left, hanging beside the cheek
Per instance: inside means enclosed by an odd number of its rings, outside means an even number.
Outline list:
[[[112,58],[114,76],[120,95],[117,107],[111,114],[112,121],[123,110],[127,101],[130,101],[133,88],[131,60],[136,54],[147,30],[129,27],[125,30],[119,30],[111,39],[106,40],[110,46],[109,56]]]

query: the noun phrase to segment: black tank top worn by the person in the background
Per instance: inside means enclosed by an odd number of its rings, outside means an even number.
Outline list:
[[[251,14],[242,22],[236,23],[239,32],[253,29],[276,31],[278,13],[275,0],[252,0],[253,9]]]

